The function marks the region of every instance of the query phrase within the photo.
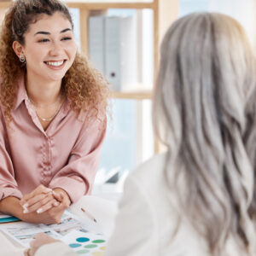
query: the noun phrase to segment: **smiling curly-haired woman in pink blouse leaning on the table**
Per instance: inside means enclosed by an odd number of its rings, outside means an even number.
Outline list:
[[[92,189],[108,84],[77,53],[71,15],[58,0],[12,3],[0,76],[0,211],[58,223]]]

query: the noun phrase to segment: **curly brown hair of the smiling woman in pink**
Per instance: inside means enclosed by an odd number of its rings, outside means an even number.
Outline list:
[[[30,24],[37,21],[38,15],[53,15],[55,12],[61,12],[73,27],[67,6],[58,0],[17,0],[4,17],[0,36],[0,102],[8,123],[12,120],[11,112],[15,108],[17,81],[20,74],[26,72],[26,65],[20,65],[12,44],[18,41],[24,45],[24,35]],[[62,79],[62,89],[70,108],[78,114],[80,110],[94,110],[91,113],[94,113],[96,118],[105,119],[108,108],[108,83],[85,56],[77,53],[72,67]]]

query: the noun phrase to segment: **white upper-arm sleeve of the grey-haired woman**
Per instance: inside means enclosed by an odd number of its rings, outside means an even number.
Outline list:
[[[148,195],[136,178],[127,177],[106,256],[158,255],[155,223]]]

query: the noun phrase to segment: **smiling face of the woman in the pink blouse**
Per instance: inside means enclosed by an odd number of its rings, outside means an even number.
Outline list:
[[[60,81],[72,66],[77,46],[69,20],[60,12],[40,15],[25,33],[22,54],[33,81]]]

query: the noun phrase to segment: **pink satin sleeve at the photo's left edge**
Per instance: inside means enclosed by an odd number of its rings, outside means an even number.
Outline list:
[[[9,154],[9,143],[4,126],[2,110],[0,110],[0,200],[8,196],[21,198],[15,180],[15,171]]]

